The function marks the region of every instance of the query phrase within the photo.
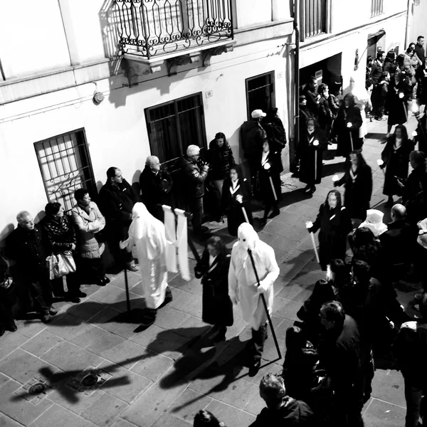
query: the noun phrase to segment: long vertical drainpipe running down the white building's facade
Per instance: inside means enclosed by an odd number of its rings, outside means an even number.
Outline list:
[[[295,58],[294,58],[294,101],[295,101],[295,120],[294,120],[294,141],[289,146],[290,172],[295,172],[295,155],[297,144],[300,142],[300,27],[298,23],[300,0],[293,1],[293,27],[295,31]]]

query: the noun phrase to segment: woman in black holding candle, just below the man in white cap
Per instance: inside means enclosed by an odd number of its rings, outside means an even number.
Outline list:
[[[263,151],[260,153],[258,177],[260,181],[260,192],[264,199],[263,223],[267,218],[274,218],[280,214],[278,201],[282,195],[280,189],[280,171],[283,170],[280,149],[273,142],[265,141]],[[272,184],[273,183],[273,184]],[[268,213],[273,208],[273,212]]]

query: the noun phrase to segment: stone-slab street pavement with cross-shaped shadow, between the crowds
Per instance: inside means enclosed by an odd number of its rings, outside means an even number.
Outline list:
[[[409,132],[415,125],[411,123]],[[384,122],[369,124],[364,157],[374,172],[371,206],[382,209],[383,172],[376,159],[384,145]],[[411,133],[410,133],[411,135]],[[342,173],[342,158],[325,160],[325,178],[313,196],[305,196],[297,179],[284,176],[280,216],[268,221],[260,238],[275,248],[280,277],[275,283],[273,324],[285,352],[285,331],[296,312],[323,278],[305,230],[327,192],[332,175]],[[260,217],[261,214],[255,214]],[[233,243],[223,225],[213,231]],[[201,248],[199,246],[199,248]],[[194,260],[191,260],[191,270]],[[188,427],[194,413],[206,408],[228,427],[246,427],[263,401],[258,384],[268,371],[279,372],[273,339],[266,342],[263,368],[250,378],[242,367],[241,350],[250,330],[234,310],[226,342],[211,344],[209,325],[201,321],[201,285],[169,275],[174,300],[159,310],[152,327],[140,331],[144,307],[139,274],[128,273],[132,316],[126,314],[123,273],[110,285],[86,286],[79,305],[58,303],[60,312],[49,325],[19,320],[18,331],[0,338],[0,426],[32,427]],[[411,310],[416,289],[403,284],[399,295]],[[33,394],[34,384],[44,384]],[[377,367],[373,394],[364,408],[367,427],[404,426],[404,383],[399,371]]]

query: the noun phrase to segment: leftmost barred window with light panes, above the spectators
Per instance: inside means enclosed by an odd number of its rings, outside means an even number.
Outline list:
[[[76,189],[84,187],[90,196],[97,194],[84,130],[36,142],[34,148],[48,201],[58,201],[70,211]]]

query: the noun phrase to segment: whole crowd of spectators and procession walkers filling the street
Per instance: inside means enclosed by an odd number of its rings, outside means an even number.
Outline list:
[[[379,52],[367,65],[365,86],[350,78],[344,90],[334,83],[330,91],[325,83],[317,87],[317,80],[310,78],[302,90],[296,156],[297,174],[306,184],[302,191],[307,197],[315,193],[323,176],[323,156],[336,142],[344,174],[333,181],[336,187],[344,186],[344,199],[332,189],[315,221],[306,224],[310,233],[319,231],[325,278],[315,283],[297,312],[299,320],[286,332],[283,371],[260,381],[266,408],[253,427],[362,426],[374,358],[391,355],[404,375],[406,427],[417,426],[419,416],[426,415],[427,129],[426,114],[419,117],[427,88],[423,43],[424,38],[418,37],[396,58],[394,51]],[[404,125],[410,102],[418,120],[411,138]],[[373,176],[362,154],[369,114],[376,120],[388,115],[378,162],[384,171],[386,205],[391,207],[387,224],[384,214],[370,206]],[[203,159],[200,147],[189,145],[175,169],[184,207],[191,213],[192,236],[206,243],[194,268],[203,287],[202,320],[213,325],[209,337],[214,342],[224,341],[227,327],[233,325],[233,305],[240,306],[251,326],[247,355],[249,375],[255,376],[268,337],[279,268],[273,248],[260,241],[253,228],[251,201],[263,200],[261,227],[280,214],[286,133],[278,110],[254,110],[251,120],[241,126],[241,144],[248,174],[236,164],[222,132],[215,135]],[[97,203],[87,189],[77,189],[69,216],[58,202],[46,205],[46,216],[38,223],[28,211],[17,214],[18,226],[6,238],[4,253],[14,263],[0,268],[0,336],[17,329],[12,310],[16,293],[24,311],[36,310],[48,323],[57,314],[54,297],[77,304],[87,296],[80,290],[83,283],[107,285],[102,256],[106,244],[118,267],[141,273],[146,301],[142,325],[152,325],[157,310],[172,300],[162,209],[174,205],[172,175],[157,157],[147,157],[138,194],[119,168],[110,167],[106,174]],[[401,198],[400,203],[394,196]],[[205,211],[215,221],[227,217],[228,233],[237,237],[231,253],[220,237],[207,236],[202,225]],[[397,301],[393,283],[404,278],[423,285],[423,292],[416,295],[415,307],[421,314],[416,320]],[[15,283],[23,284],[19,292]],[[221,425],[208,411],[199,411],[194,418],[196,427]]]

